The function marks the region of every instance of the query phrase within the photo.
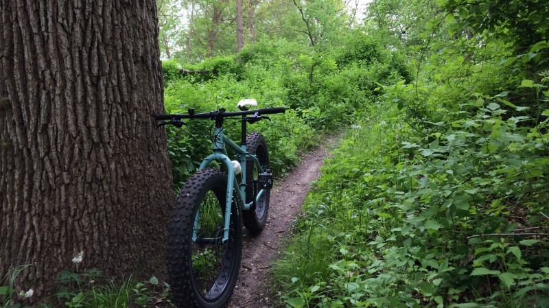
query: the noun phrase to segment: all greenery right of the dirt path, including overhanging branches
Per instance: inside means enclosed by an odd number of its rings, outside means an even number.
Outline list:
[[[375,83],[372,93],[386,99],[354,119],[274,266],[287,307],[548,304],[546,34],[517,37],[527,30],[492,20],[480,9],[495,2],[484,2],[426,22],[425,45],[409,54],[417,80],[393,73]],[[531,17],[541,33],[546,14],[520,12],[516,20]],[[458,19],[486,27],[467,36]],[[384,65],[370,64],[367,76],[385,78]],[[315,260],[314,272],[284,274],[307,257],[296,247],[309,224],[329,226],[309,244],[332,247],[329,265]]]

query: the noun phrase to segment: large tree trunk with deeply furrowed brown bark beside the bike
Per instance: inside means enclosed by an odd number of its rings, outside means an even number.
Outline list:
[[[156,23],[154,0],[0,0],[0,277],[32,264],[19,289],[45,295],[60,270],[163,276]]]

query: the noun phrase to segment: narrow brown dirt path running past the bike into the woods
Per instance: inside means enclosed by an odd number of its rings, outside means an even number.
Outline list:
[[[271,261],[277,254],[279,239],[299,213],[311,186],[310,182],[320,176],[320,166],[328,153],[327,147],[333,146],[335,142],[335,138],[329,139],[327,145],[306,154],[286,178],[275,182],[264,230],[256,237],[244,233],[240,274],[227,308],[267,308],[274,305],[275,299],[270,297],[265,284],[268,282]]]

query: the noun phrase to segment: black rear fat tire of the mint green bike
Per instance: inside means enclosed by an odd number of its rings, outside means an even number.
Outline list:
[[[269,152],[265,137],[259,132],[250,132],[246,136],[246,150],[248,153],[255,154],[259,160],[259,164],[263,169],[269,167]],[[257,167],[251,158],[246,160],[246,203],[250,203],[255,199],[253,194],[254,182],[257,180]],[[269,211],[270,189],[265,191],[257,202],[255,208],[249,211],[242,211],[242,220],[244,226],[250,233],[259,233],[263,230],[267,222]]]

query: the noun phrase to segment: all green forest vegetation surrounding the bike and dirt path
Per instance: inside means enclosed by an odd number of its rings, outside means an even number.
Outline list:
[[[156,4],[166,112],[286,106],[255,124],[278,174],[344,132],[273,266],[281,307],[548,307],[544,1]],[[167,138],[177,188],[207,149]],[[60,276],[67,307],[86,275]],[[114,285],[144,307],[165,289]]]

